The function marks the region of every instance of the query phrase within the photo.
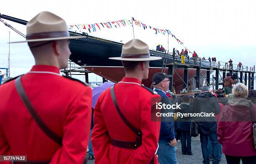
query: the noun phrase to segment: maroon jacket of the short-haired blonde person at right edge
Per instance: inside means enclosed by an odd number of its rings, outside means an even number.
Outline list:
[[[232,100],[230,102],[232,103]],[[220,114],[217,129],[218,141],[222,144],[222,152],[229,156],[255,156],[256,149],[254,149],[253,144],[249,108],[241,105],[242,102],[237,105],[230,104],[230,102],[225,105]],[[251,106],[256,119],[256,105],[251,103]]]

